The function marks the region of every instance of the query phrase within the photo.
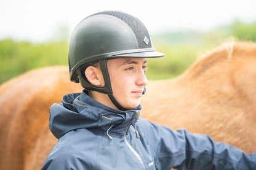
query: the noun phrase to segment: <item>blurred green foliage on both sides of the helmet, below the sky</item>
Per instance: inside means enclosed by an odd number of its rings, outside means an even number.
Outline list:
[[[242,23],[237,20],[207,32],[178,30],[153,34],[154,48],[166,56],[148,60],[146,75],[149,80],[176,77],[188,69],[200,54],[230,37],[255,42],[256,22]],[[31,69],[52,65],[68,66],[68,42],[62,38],[39,44],[10,39],[0,41],[0,83]]]

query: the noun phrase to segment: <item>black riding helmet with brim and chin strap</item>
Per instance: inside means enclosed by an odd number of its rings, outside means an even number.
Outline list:
[[[87,90],[108,94],[111,101],[124,110],[113,97],[106,60],[160,56],[164,54],[152,47],[150,35],[138,18],[118,11],[99,12],[84,18],[73,31],[68,53],[70,80],[80,82]],[[84,75],[86,67],[97,62],[100,63],[105,87],[90,84]]]

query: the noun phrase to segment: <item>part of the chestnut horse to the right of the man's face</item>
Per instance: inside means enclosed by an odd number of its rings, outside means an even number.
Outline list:
[[[148,83],[147,90],[143,117],[256,152],[255,44],[218,48],[176,79]]]

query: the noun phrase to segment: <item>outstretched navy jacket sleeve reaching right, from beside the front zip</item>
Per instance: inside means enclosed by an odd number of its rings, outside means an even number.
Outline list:
[[[246,154],[231,145],[214,142],[205,134],[191,134],[186,129],[174,131],[143,119],[140,124],[157,169],[256,170],[255,153]]]

